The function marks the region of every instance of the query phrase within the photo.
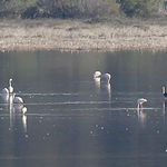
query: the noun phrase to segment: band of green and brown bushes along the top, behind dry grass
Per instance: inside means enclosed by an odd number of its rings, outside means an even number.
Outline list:
[[[159,14],[164,0],[0,0],[0,18],[147,18]]]

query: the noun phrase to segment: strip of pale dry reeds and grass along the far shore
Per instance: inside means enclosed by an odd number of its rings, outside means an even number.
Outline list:
[[[0,50],[167,49],[167,26],[63,24],[0,26]]]

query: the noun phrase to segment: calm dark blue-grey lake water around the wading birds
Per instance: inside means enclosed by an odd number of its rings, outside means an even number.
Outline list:
[[[0,89],[12,78],[28,108],[0,99],[0,166],[165,167],[166,65],[165,51],[0,52]]]

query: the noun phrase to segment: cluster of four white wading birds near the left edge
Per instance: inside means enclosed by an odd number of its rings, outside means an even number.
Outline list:
[[[23,115],[27,112],[27,107],[23,106],[23,99],[16,96],[11,78],[9,79],[9,87],[3,88],[1,92],[2,98],[6,102],[8,102],[9,105],[13,105],[13,107]]]

